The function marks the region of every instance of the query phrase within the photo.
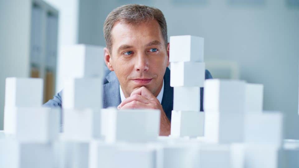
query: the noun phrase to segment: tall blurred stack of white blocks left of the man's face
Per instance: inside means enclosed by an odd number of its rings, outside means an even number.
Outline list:
[[[89,142],[102,139],[103,48],[70,45],[61,49],[59,75],[62,92],[63,134],[56,144],[60,168],[89,167]]]

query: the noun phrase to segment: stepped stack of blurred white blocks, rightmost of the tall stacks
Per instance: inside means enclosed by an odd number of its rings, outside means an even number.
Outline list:
[[[245,102],[244,145],[234,148],[244,155],[240,167],[283,167],[282,114],[263,111],[263,85],[247,84]]]

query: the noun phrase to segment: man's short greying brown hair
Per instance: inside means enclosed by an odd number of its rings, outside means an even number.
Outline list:
[[[137,4],[123,5],[109,13],[103,27],[107,48],[110,51],[112,50],[111,31],[116,21],[137,25],[141,22],[147,22],[154,19],[157,20],[160,25],[162,37],[164,37],[165,47],[167,48],[167,25],[163,13],[157,8]]]

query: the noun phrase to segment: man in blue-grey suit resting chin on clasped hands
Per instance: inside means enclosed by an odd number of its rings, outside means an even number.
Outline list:
[[[110,72],[103,82],[103,108],[159,109],[160,135],[170,134],[173,88],[170,87],[169,43],[163,13],[144,5],[114,9],[104,23]],[[206,70],[206,79],[212,78]],[[202,107],[203,90],[201,90]],[[61,107],[61,92],[45,106]],[[203,109],[201,109],[203,111]]]

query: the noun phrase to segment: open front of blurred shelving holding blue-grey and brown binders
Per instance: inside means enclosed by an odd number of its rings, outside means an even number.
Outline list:
[[[44,102],[55,92],[58,11],[43,1],[32,1],[30,77],[44,79]]]

